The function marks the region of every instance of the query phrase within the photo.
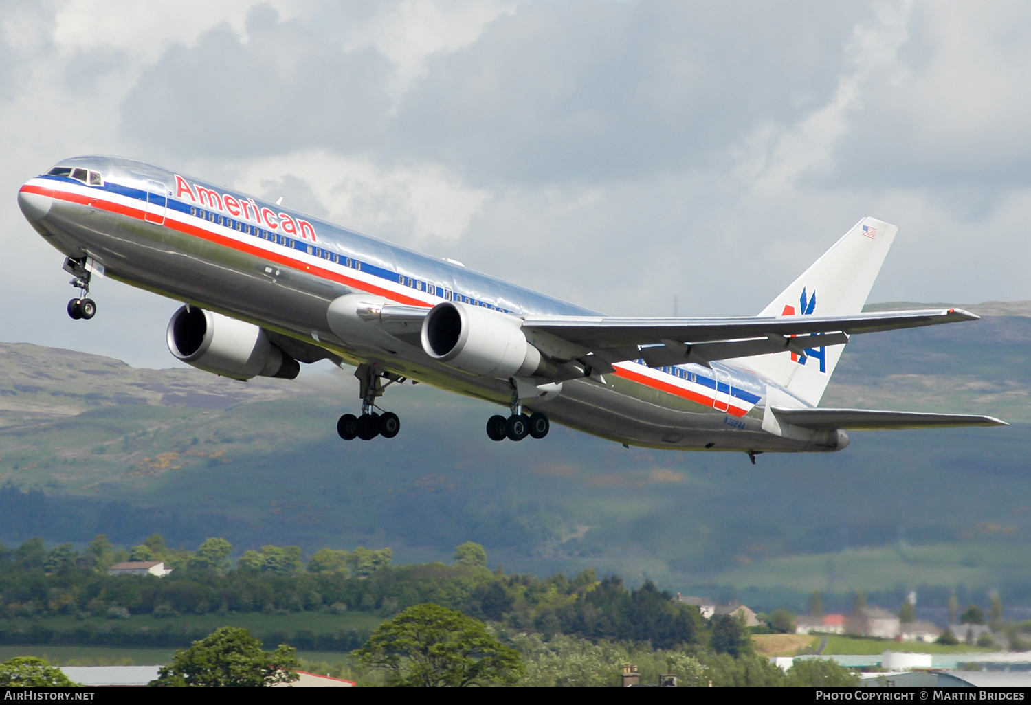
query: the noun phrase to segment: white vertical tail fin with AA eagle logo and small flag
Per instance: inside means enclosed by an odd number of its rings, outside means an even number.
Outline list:
[[[847,315],[863,310],[898,228],[864,217],[780,292],[759,315]],[[844,345],[742,359],[749,367],[816,406]]]

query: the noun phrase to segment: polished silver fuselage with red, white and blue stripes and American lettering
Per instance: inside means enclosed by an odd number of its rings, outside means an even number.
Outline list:
[[[508,406],[508,380],[441,364],[410,337],[371,328],[335,333],[327,321],[330,304],[357,294],[420,306],[455,299],[514,315],[597,315],[141,162],[81,157],[60,166],[96,171],[102,182],[47,174],[22,188],[23,212],[55,248],[73,259],[92,258],[106,276],[318,345],[355,365],[375,365]],[[745,364],[651,369],[620,363],[613,374],[567,380],[554,398],[525,404],[562,425],[658,448],[805,451],[847,443],[841,432],[799,441],[764,431],[762,400],[769,382]]]

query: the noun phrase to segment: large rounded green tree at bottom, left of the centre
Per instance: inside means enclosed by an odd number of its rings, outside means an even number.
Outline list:
[[[484,623],[432,603],[379,625],[354,656],[363,666],[386,670],[392,685],[511,685],[525,672],[519,651],[491,636]]]

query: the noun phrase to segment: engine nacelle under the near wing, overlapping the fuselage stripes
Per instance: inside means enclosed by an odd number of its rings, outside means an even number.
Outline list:
[[[486,377],[531,377],[550,367],[510,316],[458,301],[438,303],[426,314],[422,341],[434,360]]]

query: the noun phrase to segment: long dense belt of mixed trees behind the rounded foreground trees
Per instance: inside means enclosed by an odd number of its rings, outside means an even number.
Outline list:
[[[456,548],[451,565],[395,566],[390,548],[324,548],[306,562],[297,546],[263,546],[241,553],[235,563],[232,553],[233,546],[222,538],[209,538],[190,551],[169,548],[160,535],[122,549],[102,535],[81,551],[71,544],[47,548],[38,538],[13,549],[0,545],[0,617],[6,618],[0,640],[128,644],[137,643],[138,630],[130,623],[98,627],[97,618],[310,610],[388,616],[424,603],[545,638],[564,634],[644,642],[656,648],[714,643],[721,651],[735,653],[746,637],[737,622],[705,620],[696,608],[673,602],[651,581],[628,589],[619,576],[599,579],[594,570],[572,578],[562,573],[508,575],[500,567],[488,569],[487,552],[472,542]],[[122,561],[163,561],[174,570],[163,578],[108,575],[107,569]],[[84,623],[61,631],[45,622],[18,619],[55,614],[74,615]],[[354,648],[360,636],[303,633],[292,635],[291,641]],[[181,643],[190,637],[196,635],[161,623],[148,623],[145,634],[139,635],[147,645]]]

